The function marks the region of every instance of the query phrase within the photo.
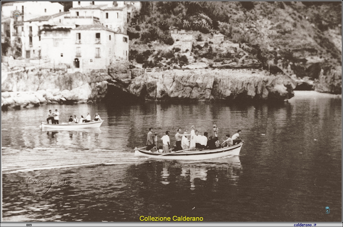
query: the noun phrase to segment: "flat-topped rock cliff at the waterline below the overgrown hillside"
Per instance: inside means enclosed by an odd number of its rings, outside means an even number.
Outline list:
[[[116,79],[114,86],[145,100],[276,100],[294,96],[296,83],[284,75],[259,70],[167,70],[151,72],[130,81]]]

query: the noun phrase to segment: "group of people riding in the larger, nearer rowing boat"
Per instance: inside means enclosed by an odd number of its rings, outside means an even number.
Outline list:
[[[241,130],[238,130],[236,134],[230,137],[229,134],[226,134],[226,139],[220,143],[218,139],[218,127],[213,125],[213,136],[209,136],[208,132],[204,132],[203,136],[199,135],[199,131],[195,130],[194,125],[191,127],[191,132],[188,134],[184,132],[181,134],[181,129],[179,128],[175,134],[175,146],[173,149],[170,149],[170,138],[169,131],[165,132],[165,135],[161,138],[163,153],[168,153],[170,151],[179,151],[191,148],[197,149],[217,149],[228,146],[233,146],[243,140],[240,138]],[[153,148],[157,149],[157,134],[153,135],[153,128],[149,128],[149,132],[146,138],[146,150],[152,150]]]

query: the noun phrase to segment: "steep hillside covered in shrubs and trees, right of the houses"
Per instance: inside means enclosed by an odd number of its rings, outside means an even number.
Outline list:
[[[130,61],[143,67],[260,68],[309,77],[318,91],[342,90],[342,3],[142,2],[129,28]],[[169,27],[193,35],[191,51],[173,45]],[[223,34],[220,44],[208,41]],[[232,48],[225,43],[239,43]]]

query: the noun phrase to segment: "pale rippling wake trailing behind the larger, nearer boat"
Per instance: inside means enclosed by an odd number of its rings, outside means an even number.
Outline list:
[[[2,147],[1,150],[3,174],[79,166],[139,164],[146,161],[135,156],[133,151],[124,150],[44,147]]]

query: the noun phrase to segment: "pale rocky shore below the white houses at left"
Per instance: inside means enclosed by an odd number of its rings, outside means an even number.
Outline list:
[[[107,70],[86,74],[50,69],[9,73],[1,81],[1,109],[100,100],[105,97],[110,78]]]

